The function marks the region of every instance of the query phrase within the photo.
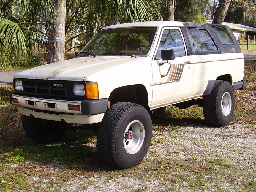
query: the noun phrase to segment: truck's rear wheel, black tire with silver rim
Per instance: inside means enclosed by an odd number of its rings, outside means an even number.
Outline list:
[[[203,114],[212,126],[228,125],[234,116],[235,94],[227,81],[216,81],[210,95],[203,98]]]

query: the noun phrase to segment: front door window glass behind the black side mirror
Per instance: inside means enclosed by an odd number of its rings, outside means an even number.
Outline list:
[[[161,50],[173,49],[175,57],[185,56],[184,43],[178,29],[165,29],[157,49],[156,59],[161,59]]]

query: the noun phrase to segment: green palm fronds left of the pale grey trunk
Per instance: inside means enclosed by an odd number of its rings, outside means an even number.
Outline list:
[[[0,2],[0,62],[26,64],[37,45],[46,45],[47,15],[53,15],[51,0],[3,0]]]

